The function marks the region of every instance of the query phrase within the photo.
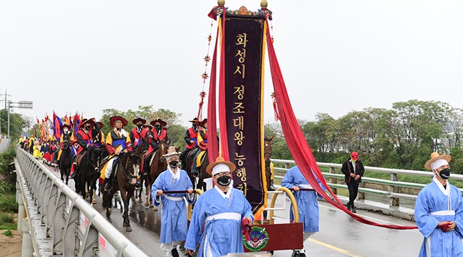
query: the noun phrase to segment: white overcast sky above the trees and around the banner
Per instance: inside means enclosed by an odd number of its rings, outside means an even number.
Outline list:
[[[412,99],[463,107],[463,1],[268,2],[276,54],[298,119],[390,109]],[[98,119],[103,109],[153,105],[182,113],[188,125],[203,89],[213,21],[207,14],[215,5],[0,1],[0,93],[7,90],[13,102],[32,100],[33,110],[14,111],[34,119],[53,110]],[[256,11],[260,0],[225,3],[234,10],[242,5]],[[269,73],[264,114],[274,122]]]

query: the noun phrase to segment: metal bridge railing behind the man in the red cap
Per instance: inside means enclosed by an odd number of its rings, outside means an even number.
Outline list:
[[[274,164],[280,164],[280,166],[284,166],[283,168],[274,168],[274,172],[276,173],[275,177],[279,179],[283,179],[283,176],[277,175],[277,173],[284,174],[289,168],[296,165],[296,162],[293,160],[286,159],[271,159],[271,162],[274,162]],[[317,162],[317,164],[318,167],[328,168],[329,172],[322,172],[322,174],[323,177],[325,177],[328,186],[332,189],[333,193],[337,194],[336,189],[347,189],[347,185],[344,183],[344,174],[340,172],[340,169],[343,166],[342,164],[325,162]],[[368,173],[365,173],[366,176],[364,175],[364,177],[362,177],[362,182],[358,188],[358,198],[365,199],[365,193],[388,196],[389,206],[400,206],[400,199],[411,199],[412,201],[415,201],[417,199],[417,194],[407,194],[405,193],[407,192],[406,189],[422,189],[426,186],[426,184],[400,182],[398,179],[399,174],[414,175],[419,177],[432,177],[432,172],[422,172],[410,169],[387,169],[365,166],[365,172],[388,173],[390,174],[390,179],[376,179],[368,177]],[[463,175],[452,174],[450,179],[463,180]],[[384,190],[384,187],[380,187],[381,189],[377,189],[378,187],[373,188],[371,187],[372,184],[388,186],[388,190]],[[463,192],[463,189],[460,189],[460,191]]]

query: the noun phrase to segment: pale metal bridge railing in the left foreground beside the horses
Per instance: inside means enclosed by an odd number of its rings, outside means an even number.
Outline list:
[[[20,147],[15,167],[23,256],[147,256]]]

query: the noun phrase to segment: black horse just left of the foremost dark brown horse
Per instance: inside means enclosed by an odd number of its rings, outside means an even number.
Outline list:
[[[94,145],[88,148],[82,157],[77,159],[76,192],[85,199],[89,198],[90,204],[96,204],[96,181],[100,177],[98,166],[101,158],[101,149]]]

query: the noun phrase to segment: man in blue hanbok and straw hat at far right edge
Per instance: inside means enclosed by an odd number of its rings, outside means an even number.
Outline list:
[[[433,152],[425,164],[434,178],[420,191],[415,204],[415,221],[425,236],[420,256],[463,256],[462,193],[447,181],[450,159],[448,154]]]

